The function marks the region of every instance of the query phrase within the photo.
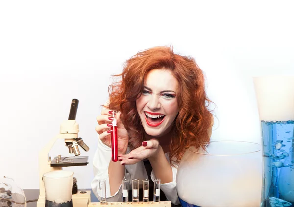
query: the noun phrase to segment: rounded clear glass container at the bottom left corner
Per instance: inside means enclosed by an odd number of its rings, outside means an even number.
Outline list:
[[[0,177],[0,207],[26,207],[25,193],[12,178]]]

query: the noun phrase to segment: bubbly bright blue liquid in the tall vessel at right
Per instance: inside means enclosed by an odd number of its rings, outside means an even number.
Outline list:
[[[294,207],[294,121],[262,121],[262,207]]]

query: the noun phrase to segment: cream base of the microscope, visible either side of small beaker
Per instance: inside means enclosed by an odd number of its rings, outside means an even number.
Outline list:
[[[86,192],[86,193],[81,193]],[[91,191],[84,190],[78,191],[77,194],[73,194],[73,207],[88,207],[91,202]],[[37,207],[45,207],[45,196],[39,196]]]

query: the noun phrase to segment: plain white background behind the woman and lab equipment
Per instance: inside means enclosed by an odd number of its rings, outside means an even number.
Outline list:
[[[110,75],[138,51],[172,45],[196,59],[216,104],[212,138],[260,142],[252,76],[294,74],[293,1],[0,1],[0,176],[39,188],[38,153],[71,100],[90,151],[72,169],[90,188],[96,116]],[[273,83],[273,87],[279,87]],[[51,156],[68,155],[57,142]]]

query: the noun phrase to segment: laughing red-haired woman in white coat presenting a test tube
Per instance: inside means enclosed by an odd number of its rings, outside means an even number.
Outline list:
[[[154,47],[127,60],[117,76],[121,80],[110,85],[109,101],[97,117],[93,191],[99,199],[98,180],[104,178],[107,200],[121,201],[124,178],[131,186],[132,179],[142,183],[149,176],[161,179],[166,198],[179,204],[177,165],[185,149],[202,147],[211,135],[213,116],[202,70],[193,58],[174,54],[170,47]],[[109,109],[119,111],[118,162],[111,161]]]

